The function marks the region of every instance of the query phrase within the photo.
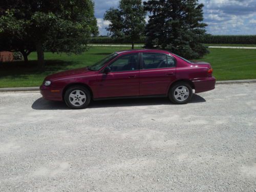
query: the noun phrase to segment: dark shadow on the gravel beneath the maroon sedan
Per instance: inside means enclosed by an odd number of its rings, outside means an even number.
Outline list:
[[[200,103],[206,100],[199,95],[194,94],[189,103]],[[111,99],[92,101],[88,108],[110,108],[117,106],[143,106],[143,105],[170,105],[168,98],[136,98],[136,99]],[[65,102],[49,101],[39,98],[32,104],[34,110],[70,110]]]

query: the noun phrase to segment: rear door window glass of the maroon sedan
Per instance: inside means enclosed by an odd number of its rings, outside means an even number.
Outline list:
[[[142,53],[143,69],[159,69],[175,67],[175,59],[162,53]]]

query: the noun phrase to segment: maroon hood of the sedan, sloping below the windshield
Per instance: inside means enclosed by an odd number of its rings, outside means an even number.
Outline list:
[[[57,80],[60,78],[72,77],[76,76],[79,77],[80,75],[88,74],[92,71],[88,70],[88,68],[80,68],[80,69],[72,69],[67,71],[62,71],[58,73],[54,73],[46,77],[46,80]]]

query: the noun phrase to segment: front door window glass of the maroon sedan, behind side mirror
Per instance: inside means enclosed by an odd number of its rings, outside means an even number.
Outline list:
[[[139,59],[137,53],[124,55],[117,58],[117,60],[112,62],[109,67],[111,72],[134,71],[139,69],[138,60]]]

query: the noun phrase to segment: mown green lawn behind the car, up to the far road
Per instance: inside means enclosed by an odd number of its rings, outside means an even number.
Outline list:
[[[131,47],[92,47],[80,55],[45,53],[46,71],[36,69],[36,53],[29,55],[30,62],[0,63],[0,88],[40,86],[52,73],[90,66],[104,56]],[[136,47],[138,49],[139,47]],[[210,54],[198,59],[210,62],[217,80],[256,79],[256,50],[209,49]]]

